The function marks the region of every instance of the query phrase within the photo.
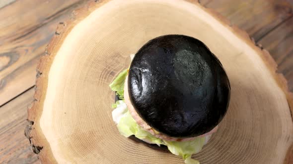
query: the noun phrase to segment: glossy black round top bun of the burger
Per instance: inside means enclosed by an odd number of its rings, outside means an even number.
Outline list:
[[[192,37],[166,35],[148,41],[136,53],[128,78],[137,113],[171,137],[211,131],[228,108],[230,84],[220,61]]]

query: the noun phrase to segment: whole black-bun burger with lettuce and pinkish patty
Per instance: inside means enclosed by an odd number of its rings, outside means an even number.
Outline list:
[[[120,133],[165,145],[186,164],[198,163],[191,155],[217,131],[230,99],[219,59],[183,35],[148,41],[110,87],[119,99],[112,116]]]

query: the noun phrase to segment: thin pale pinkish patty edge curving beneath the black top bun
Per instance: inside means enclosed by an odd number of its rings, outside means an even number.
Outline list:
[[[129,94],[128,94],[128,76],[126,77],[126,80],[125,80],[125,83],[124,83],[124,100],[125,100],[125,103],[128,107],[128,110],[131,114],[131,116],[133,117],[133,119],[146,131],[150,132],[152,135],[154,135],[155,137],[157,138],[160,138],[160,139],[163,139],[163,140],[166,140],[166,141],[190,141],[190,140],[193,140],[195,137],[190,137],[190,138],[174,138],[174,137],[170,137],[170,136],[167,136],[165,134],[162,134],[162,133],[159,133],[158,131],[156,131],[155,129],[153,129],[152,127],[150,127],[140,116],[139,114],[136,112],[136,110],[134,109],[131,101],[130,101],[130,98],[129,98]],[[198,137],[204,137],[204,136],[207,136],[207,135],[210,135],[214,132],[216,132],[218,129],[218,125],[213,129],[211,130],[210,132],[207,132],[203,135],[200,135]]]

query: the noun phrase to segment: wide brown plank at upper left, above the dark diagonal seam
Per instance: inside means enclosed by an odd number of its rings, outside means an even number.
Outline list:
[[[35,84],[35,68],[58,23],[86,1],[19,0],[0,9],[0,106]]]

